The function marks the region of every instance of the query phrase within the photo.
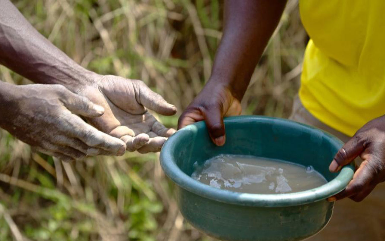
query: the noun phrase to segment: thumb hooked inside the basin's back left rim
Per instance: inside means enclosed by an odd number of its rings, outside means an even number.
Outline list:
[[[203,117],[211,140],[217,146],[223,146],[226,142],[222,110],[219,107],[210,107],[203,111]]]

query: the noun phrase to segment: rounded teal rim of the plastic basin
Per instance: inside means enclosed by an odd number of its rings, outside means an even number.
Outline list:
[[[317,131],[320,133],[320,129],[313,126],[297,123],[295,121],[275,118],[275,117],[266,117],[266,116],[233,116],[224,118],[225,125],[227,123],[248,123],[248,122],[258,122],[258,123],[272,123],[275,125],[290,125],[294,128],[302,128],[308,131]],[[192,125],[186,126],[181,130],[178,130],[174,135],[172,135],[166,143],[164,143],[161,154],[160,154],[160,163],[161,167],[166,173],[166,175],[179,187],[185,189],[189,192],[192,192],[196,195],[214,200],[219,202],[224,202],[228,204],[235,204],[240,206],[250,206],[250,207],[286,207],[286,206],[297,206],[303,204],[309,204],[312,202],[317,202],[324,200],[328,197],[331,197],[338,192],[341,192],[345,189],[346,185],[352,180],[354,173],[354,164],[346,165],[343,167],[339,174],[332,179],[330,182],[316,187],[314,189],[305,190],[301,192],[293,192],[287,194],[249,194],[234,192],[230,190],[217,189],[209,185],[203,184],[197,180],[192,179],[190,176],[182,172],[181,169],[176,165],[174,157],[171,155],[171,150],[175,147],[176,143],[179,142],[179,139],[184,131],[197,130],[197,128],[205,128],[205,123],[199,121]],[[336,138],[335,136],[322,131],[322,135],[327,138],[332,145],[339,149],[342,147],[343,142]],[[331,161],[331,160],[330,160]]]

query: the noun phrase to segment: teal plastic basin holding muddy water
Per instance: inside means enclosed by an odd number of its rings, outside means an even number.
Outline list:
[[[186,126],[164,144],[161,165],[175,182],[184,218],[200,231],[227,241],[302,240],[330,220],[333,202],[353,177],[353,165],[338,174],[328,170],[342,146],[336,137],[311,126],[261,116],[224,120],[226,144],[215,146],[204,122]],[[193,164],[216,155],[242,154],[312,165],[328,183],[290,194],[247,194],[216,189],[191,178]]]

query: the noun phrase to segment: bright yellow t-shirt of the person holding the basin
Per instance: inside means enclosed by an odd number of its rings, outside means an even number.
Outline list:
[[[385,114],[385,0],[300,0],[300,14],[311,38],[301,102],[352,136]]]

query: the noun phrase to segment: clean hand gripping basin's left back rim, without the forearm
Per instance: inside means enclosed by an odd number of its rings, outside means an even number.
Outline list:
[[[223,117],[240,115],[241,111],[241,104],[228,88],[209,82],[179,117],[178,129],[204,120],[211,140],[222,146],[226,141]]]

